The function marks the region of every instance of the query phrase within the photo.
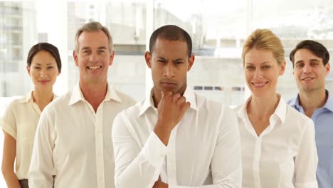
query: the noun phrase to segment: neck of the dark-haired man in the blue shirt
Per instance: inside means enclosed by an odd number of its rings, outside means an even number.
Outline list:
[[[299,93],[300,105],[305,111],[308,117],[312,117],[314,110],[322,108],[327,101],[326,90],[312,90],[312,91],[300,91]]]

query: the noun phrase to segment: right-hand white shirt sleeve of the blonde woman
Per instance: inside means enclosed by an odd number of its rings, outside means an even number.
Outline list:
[[[314,123],[307,121],[295,157],[295,187],[317,188],[316,170],[318,164],[317,147],[314,139]]]

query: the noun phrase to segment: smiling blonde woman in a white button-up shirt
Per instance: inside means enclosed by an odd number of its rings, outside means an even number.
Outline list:
[[[314,124],[277,93],[285,71],[282,43],[257,29],[243,46],[243,71],[251,95],[238,110],[243,187],[317,187]]]

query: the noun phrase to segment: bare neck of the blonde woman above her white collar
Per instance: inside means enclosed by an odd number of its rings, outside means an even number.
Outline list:
[[[280,95],[269,97],[255,97],[251,96],[247,105],[248,114],[252,114],[260,117],[270,117],[275,112],[277,105],[280,101]]]

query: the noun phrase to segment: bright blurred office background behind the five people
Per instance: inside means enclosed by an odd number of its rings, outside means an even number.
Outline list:
[[[331,0],[31,0],[0,1],[0,115],[14,98],[32,88],[26,56],[38,42],[58,47],[63,62],[55,93],[61,95],[78,81],[73,61],[76,30],[88,21],[100,21],[112,33],[115,60],[109,81],[117,89],[142,100],[152,88],[144,61],[154,29],[175,24],[188,31],[196,60],[188,85],[208,98],[231,106],[249,95],[241,60],[243,41],[255,28],[269,28],[285,46],[287,67],[278,92],[285,100],[297,95],[289,53],[304,39],[323,43],[333,54]],[[332,55],[333,56],[333,55]],[[327,76],[333,93],[333,71]],[[0,161],[3,134],[0,134]],[[5,187],[2,174],[0,187]]]

